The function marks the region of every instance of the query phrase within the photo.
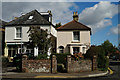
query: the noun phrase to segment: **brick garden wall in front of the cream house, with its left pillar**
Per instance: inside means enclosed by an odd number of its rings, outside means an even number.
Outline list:
[[[91,60],[71,60],[71,56],[67,56],[67,72],[83,72],[92,71],[92,61]]]

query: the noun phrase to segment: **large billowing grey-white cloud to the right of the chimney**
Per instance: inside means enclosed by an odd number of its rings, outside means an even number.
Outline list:
[[[118,13],[118,5],[108,1],[101,1],[93,7],[82,11],[80,22],[92,28],[93,33],[99,29],[112,25],[112,17]]]

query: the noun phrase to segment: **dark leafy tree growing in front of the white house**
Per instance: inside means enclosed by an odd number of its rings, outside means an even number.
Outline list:
[[[40,26],[30,26],[28,33],[29,46],[32,48],[37,46],[41,53],[46,53],[50,43],[47,31],[41,29]]]

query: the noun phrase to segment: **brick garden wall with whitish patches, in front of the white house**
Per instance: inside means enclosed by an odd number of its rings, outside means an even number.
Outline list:
[[[22,71],[23,72],[45,72],[45,73],[56,73],[56,57],[51,60],[28,60],[27,56],[22,58]],[[53,65],[53,67],[51,67]],[[52,69],[52,70],[51,70]]]

